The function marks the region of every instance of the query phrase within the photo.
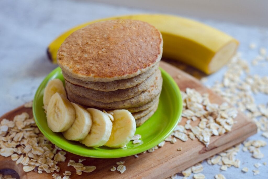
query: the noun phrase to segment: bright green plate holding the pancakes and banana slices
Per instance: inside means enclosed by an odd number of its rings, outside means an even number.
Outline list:
[[[53,70],[39,86],[33,100],[33,116],[40,131],[52,143],[58,147],[76,155],[93,158],[119,158],[138,154],[146,151],[165,140],[177,126],[181,118],[182,98],[177,84],[167,72],[161,69],[163,77],[163,89],[160,102],[155,114],[142,126],[137,127],[136,134],[142,135],[142,142],[132,144],[129,142],[126,148],[86,147],[75,141],[66,140],[61,133],[55,133],[47,126],[46,114],[44,113],[43,94],[44,88],[50,79],[59,78],[64,81],[61,69]]]

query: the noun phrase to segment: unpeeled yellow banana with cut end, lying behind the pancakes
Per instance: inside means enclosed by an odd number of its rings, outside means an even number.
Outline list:
[[[72,32],[88,24],[111,19],[135,19],[154,25],[163,36],[163,57],[184,62],[206,74],[217,71],[231,59],[239,44],[224,32],[194,20],[164,14],[140,14],[110,17],[74,27],[48,46],[49,58],[57,63],[57,51]]]

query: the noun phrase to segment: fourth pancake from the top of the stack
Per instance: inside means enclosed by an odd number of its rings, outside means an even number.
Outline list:
[[[111,103],[103,103],[100,101],[94,101],[88,98],[78,96],[70,92],[68,88],[66,89],[66,91],[67,91],[67,96],[69,100],[74,103],[79,103],[85,106],[98,107],[98,108],[103,108],[103,109],[125,109],[125,108],[139,107],[141,105],[144,105],[152,101],[156,96],[158,96],[158,94],[161,93],[162,82],[163,82],[163,79],[161,76],[161,78],[157,78],[154,81],[154,85],[150,86],[149,89],[138,94],[137,96],[129,98],[127,100],[114,101]]]

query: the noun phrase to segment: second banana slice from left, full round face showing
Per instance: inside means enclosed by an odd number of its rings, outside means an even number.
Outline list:
[[[75,121],[75,109],[62,94],[55,93],[47,106],[47,125],[53,132],[69,129]]]

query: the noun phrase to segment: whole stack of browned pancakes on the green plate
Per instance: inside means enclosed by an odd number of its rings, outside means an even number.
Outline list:
[[[137,20],[109,20],[73,32],[57,61],[70,101],[127,109],[142,125],[157,110],[162,89],[161,33]]]

